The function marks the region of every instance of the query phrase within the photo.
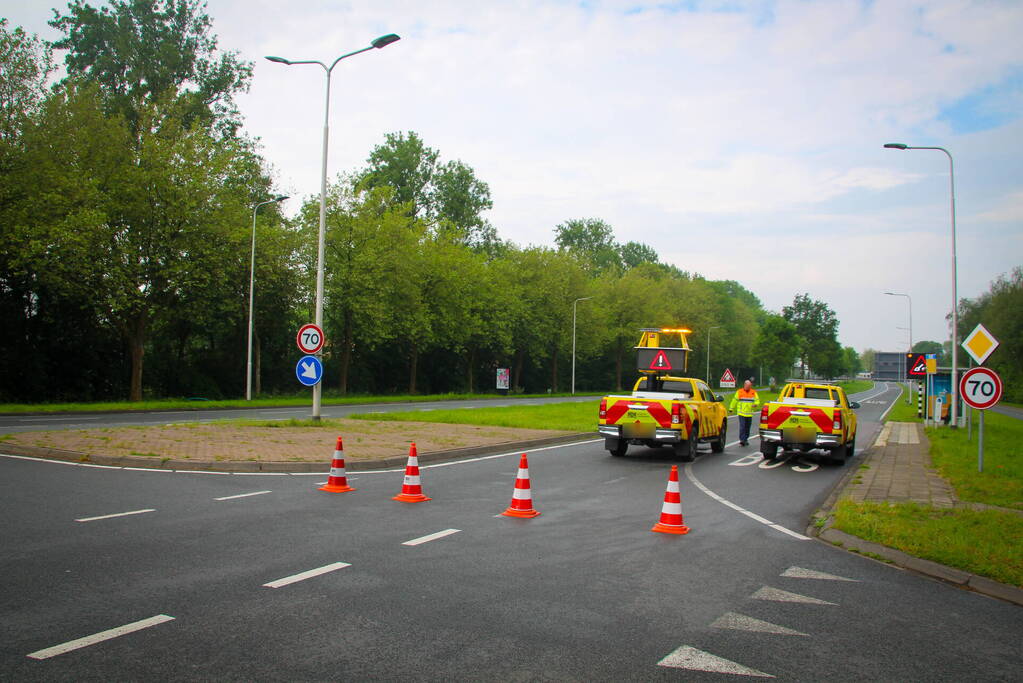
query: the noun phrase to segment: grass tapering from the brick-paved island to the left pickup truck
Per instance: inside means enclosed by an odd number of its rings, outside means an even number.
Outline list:
[[[508,406],[460,410],[410,410],[396,413],[356,413],[353,419],[395,422],[443,422],[528,429],[596,431],[599,399],[592,402],[548,403],[542,406]]]

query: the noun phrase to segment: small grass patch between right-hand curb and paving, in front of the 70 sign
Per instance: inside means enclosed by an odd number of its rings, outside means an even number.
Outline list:
[[[835,528],[916,557],[1023,587],[1023,516],[918,503],[835,507]]]

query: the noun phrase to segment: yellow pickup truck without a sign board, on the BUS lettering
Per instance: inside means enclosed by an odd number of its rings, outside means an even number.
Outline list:
[[[760,452],[773,460],[779,450],[822,449],[845,462],[856,451],[857,408],[841,386],[790,382],[760,409]]]

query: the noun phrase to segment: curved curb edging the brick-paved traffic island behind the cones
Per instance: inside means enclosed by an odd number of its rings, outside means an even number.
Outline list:
[[[562,435],[559,437],[547,437],[544,439],[532,439],[529,441],[503,442],[491,444],[489,446],[472,446],[468,448],[454,448],[447,451],[420,452],[419,463],[430,464],[434,462],[444,462],[450,460],[461,460],[481,455],[493,455],[504,451],[519,451],[542,448],[544,446],[555,446],[559,444],[570,444],[580,439],[594,438],[593,432],[583,431],[578,434]],[[217,472],[267,472],[267,473],[287,473],[287,472],[323,472],[324,476],[330,467],[327,462],[284,462],[284,461],[210,461],[210,460],[174,460],[171,458],[153,458],[141,455],[91,455],[89,453],[79,453],[78,451],[64,451],[57,448],[43,448],[40,446],[21,446],[19,444],[0,444],[0,450],[10,455],[21,455],[43,460],[60,460],[63,462],[77,462],[92,465],[105,465],[108,467],[139,467],[144,469],[162,469],[178,471],[217,471]],[[349,471],[363,471],[367,469],[379,469],[388,467],[402,467],[407,462],[407,456],[394,456],[390,458],[377,458],[374,460],[349,460],[346,468]]]

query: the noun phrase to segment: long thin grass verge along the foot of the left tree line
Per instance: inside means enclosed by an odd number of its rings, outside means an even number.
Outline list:
[[[577,392],[577,395],[586,396]],[[430,394],[422,396],[324,396],[322,405],[343,406],[363,403],[427,403],[431,401],[469,401],[473,399],[530,399],[565,397],[569,394],[516,394],[502,397],[496,394]],[[596,396],[595,394],[593,396]],[[151,401],[119,401],[105,403],[3,403],[0,413],[63,413],[63,412],[115,412],[133,410],[209,410],[211,408],[268,408],[277,406],[307,406],[312,402],[309,394],[303,396],[282,396],[244,401],[230,399],[224,401],[160,399]]]

